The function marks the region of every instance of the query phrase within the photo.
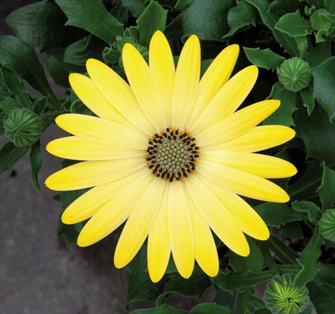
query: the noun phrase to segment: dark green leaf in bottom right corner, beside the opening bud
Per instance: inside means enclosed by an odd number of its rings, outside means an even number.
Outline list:
[[[316,283],[311,281],[307,284],[309,298],[311,299],[316,313],[332,314],[335,307],[335,287],[327,283]]]

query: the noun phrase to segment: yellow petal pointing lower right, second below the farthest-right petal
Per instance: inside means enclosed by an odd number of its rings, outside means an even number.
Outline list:
[[[239,195],[212,184],[200,174],[197,177],[221,200],[243,232],[258,240],[269,239],[267,225],[246,201]]]

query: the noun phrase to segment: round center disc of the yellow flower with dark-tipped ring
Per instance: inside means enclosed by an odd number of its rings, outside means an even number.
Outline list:
[[[166,128],[154,134],[148,142],[147,166],[156,177],[179,181],[195,170],[199,158],[195,138],[185,130]]]

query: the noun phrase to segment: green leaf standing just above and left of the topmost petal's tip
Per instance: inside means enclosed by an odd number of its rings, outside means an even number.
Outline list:
[[[164,10],[157,1],[151,1],[149,6],[137,19],[138,31],[140,33],[140,45],[148,47],[151,36],[155,31],[164,31],[167,10]]]

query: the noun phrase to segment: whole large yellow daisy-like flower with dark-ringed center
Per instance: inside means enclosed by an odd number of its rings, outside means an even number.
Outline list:
[[[149,47],[149,66],[126,44],[122,61],[129,85],[101,61],[71,74],[75,94],[98,117],[61,114],[56,123],[74,136],[54,140],[47,151],[86,160],[52,174],[53,190],[91,188],[64,211],[67,224],[89,221],[77,239],[89,246],[126,221],[114,255],[116,267],[131,262],[148,237],[148,269],[159,281],[170,253],[184,278],[195,260],[218,273],[211,230],[234,253],[249,254],[244,233],[266,240],[267,226],[239,196],[287,202],[267,180],[296,173],[285,160],[254,154],[290,140],[286,126],[257,126],[279,107],[264,100],[237,110],[253,88],[256,66],[230,80],[239,47],[226,47],[200,79],[200,43],[186,41],[174,68],[163,33]],[[267,178],[267,179],[265,179]]]

